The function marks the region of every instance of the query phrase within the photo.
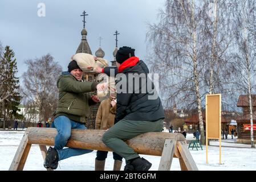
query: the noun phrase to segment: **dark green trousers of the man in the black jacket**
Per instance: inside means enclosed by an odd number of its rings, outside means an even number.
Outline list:
[[[125,158],[125,160],[134,159],[139,157],[139,155],[124,140],[129,140],[143,133],[160,132],[163,122],[163,119],[155,122],[122,119],[104,133],[102,141],[116,154]]]

